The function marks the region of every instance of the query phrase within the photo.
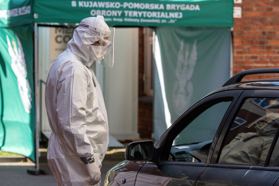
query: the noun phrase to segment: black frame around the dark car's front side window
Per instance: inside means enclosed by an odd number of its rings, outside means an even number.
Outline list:
[[[154,161],[159,161],[163,164],[175,164],[175,165],[190,165],[190,166],[207,166],[211,160],[211,155],[215,149],[215,144],[219,138],[220,132],[224,126],[227,117],[230,116],[231,110],[234,108],[234,105],[237,103],[239,96],[242,94],[243,90],[226,90],[221,92],[216,92],[211,95],[208,95],[201,99],[199,102],[194,104],[190,109],[188,109],[180,118],[173,123],[173,125],[162,135],[162,137],[155,144],[157,150],[157,156],[154,157]],[[188,126],[198,115],[200,115],[204,110],[208,109],[212,105],[222,102],[224,100],[231,99],[231,104],[228,107],[224,117],[219,124],[219,127],[216,131],[215,137],[212,141],[211,148],[207,155],[207,161],[204,162],[179,162],[179,161],[168,161],[169,152],[172,147],[172,142],[185,127]],[[160,156],[161,154],[161,156]]]

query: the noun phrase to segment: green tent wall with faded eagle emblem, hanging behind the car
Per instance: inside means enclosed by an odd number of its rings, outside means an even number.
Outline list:
[[[230,77],[230,29],[158,28],[155,38],[154,138]]]

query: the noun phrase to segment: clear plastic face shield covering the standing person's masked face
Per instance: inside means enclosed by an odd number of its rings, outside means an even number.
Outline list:
[[[110,36],[104,37],[91,45],[96,57],[95,61],[104,67],[114,65],[114,29],[110,28]]]

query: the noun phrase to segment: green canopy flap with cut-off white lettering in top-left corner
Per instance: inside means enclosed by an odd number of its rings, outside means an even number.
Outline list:
[[[33,23],[33,0],[0,0],[0,27]]]

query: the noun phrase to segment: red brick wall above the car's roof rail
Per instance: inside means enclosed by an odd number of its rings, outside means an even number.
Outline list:
[[[233,74],[279,67],[279,1],[242,0],[242,17],[234,18]]]

